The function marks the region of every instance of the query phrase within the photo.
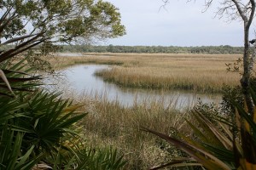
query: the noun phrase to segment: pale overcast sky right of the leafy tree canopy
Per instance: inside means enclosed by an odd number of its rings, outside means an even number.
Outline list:
[[[113,45],[147,46],[242,46],[241,21],[227,22],[215,16],[217,5],[202,13],[202,0],[107,0],[113,3],[126,27],[124,37],[108,40]],[[218,2],[218,1],[216,1]],[[256,24],[253,24],[253,28]],[[251,31],[251,37],[254,36]]]

